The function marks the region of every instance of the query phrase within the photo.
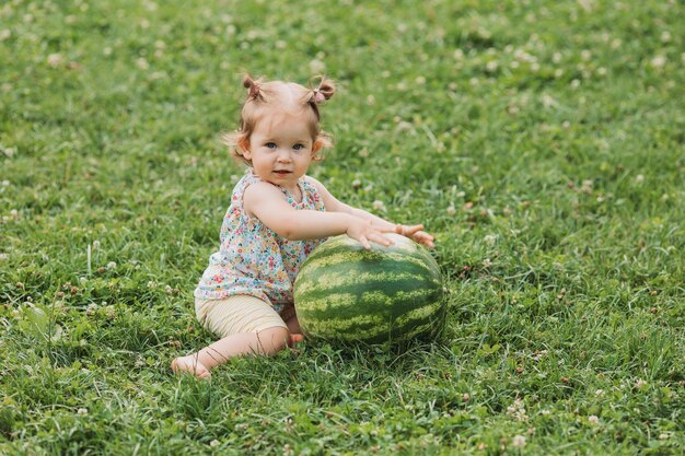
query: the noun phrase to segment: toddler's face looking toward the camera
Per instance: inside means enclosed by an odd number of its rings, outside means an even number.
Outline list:
[[[291,192],[298,191],[298,179],[318,150],[303,118],[289,114],[266,116],[257,122],[243,153],[259,178]]]

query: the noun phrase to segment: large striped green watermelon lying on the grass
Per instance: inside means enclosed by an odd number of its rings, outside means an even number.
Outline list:
[[[302,332],[313,339],[398,344],[433,339],[446,303],[440,267],[428,250],[398,234],[367,250],[347,235],[332,237],[304,261],[294,282]]]

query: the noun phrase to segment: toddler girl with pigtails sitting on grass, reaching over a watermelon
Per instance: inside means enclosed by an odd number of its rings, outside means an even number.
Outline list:
[[[292,284],[310,253],[327,236],[347,234],[365,248],[390,245],[384,232],[429,247],[423,226],[391,223],[337,200],[306,175],[330,147],[318,106],[335,93],[322,79],[315,89],[245,77],[247,100],[239,129],[224,137],[248,168],[231,196],[219,252],[195,290],[195,311],[220,339],[173,360],[172,370],[200,378],[232,356],[271,354],[302,340]]]

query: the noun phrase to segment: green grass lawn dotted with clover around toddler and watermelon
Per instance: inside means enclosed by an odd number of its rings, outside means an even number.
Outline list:
[[[683,23],[655,0],[3,2],[0,453],[682,454]],[[338,82],[312,174],[437,235],[440,343],[171,375],[212,339],[191,292],[244,70]]]

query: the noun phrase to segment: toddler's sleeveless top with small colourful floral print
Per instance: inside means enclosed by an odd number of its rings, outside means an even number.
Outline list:
[[[270,303],[277,312],[292,303],[292,284],[302,262],[314,247],[325,241],[288,241],[265,226],[259,219],[243,209],[245,189],[262,182],[252,169],[235,185],[231,206],[221,225],[219,252],[209,257],[195,290],[195,297],[223,300],[247,294]],[[323,211],[324,201],[316,187],[303,176],[298,182],[302,201],[278,187],[295,210]]]

